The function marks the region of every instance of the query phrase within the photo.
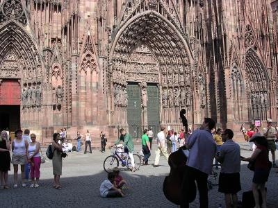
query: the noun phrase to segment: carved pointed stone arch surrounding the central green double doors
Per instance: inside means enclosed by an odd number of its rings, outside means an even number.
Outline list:
[[[163,120],[165,123],[179,123],[177,118],[181,107],[186,107],[188,112],[192,112],[190,106],[193,105],[191,90],[193,55],[177,26],[160,13],[153,10],[139,12],[125,21],[117,31],[109,57],[110,71],[106,71],[112,75],[110,79],[112,83],[106,85],[113,84],[114,90],[118,85],[126,87],[126,62],[132,51],[140,44],[145,44],[158,62]],[[181,101],[181,96],[186,101]],[[115,97],[112,98],[112,103],[117,109]]]

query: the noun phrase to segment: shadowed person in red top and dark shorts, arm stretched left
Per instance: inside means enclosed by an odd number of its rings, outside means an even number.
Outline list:
[[[255,208],[259,208],[259,191],[261,191],[261,196],[263,199],[262,206],[266,208],[266,191],[265,191],[265,182],[268,181],[268,176],[270,173],[271,162],[268,159],[268,141],[265,137],[261,136],[260,133],[256,133],[250,139],[256,145],[254,153],[249,158],[243,158],[243,161],[254,162],[254,176],[252,191],[254,195],[254,200],[256,203]]]

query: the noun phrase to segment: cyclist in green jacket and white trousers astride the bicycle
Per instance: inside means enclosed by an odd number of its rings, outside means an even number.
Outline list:
[[[131,171],[135,172],[135,164],[134,164],[134,157],[133,157],[133,151],[134,151],[133,140],[131,138],[131,135],[126,133],[123,128],[120,129],[120,134],[121,136],[119,139],[117,139],[117,141],[115,141],[115,145],[117,146],[117,144],[120,144],[120,142],[124,140],[122,145],[124,146],[124,148],[126,148],[126,150],[129,153],[129,158],[131,159]]]

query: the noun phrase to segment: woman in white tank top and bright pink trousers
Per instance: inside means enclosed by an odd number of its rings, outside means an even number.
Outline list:
[[[32,184],[31,188],[38,188],[39,187],[39,180],[40,180],[40,143],[35,141],[36,136],[35,134],[31,134],[31,143],[28,146],[28,162],[31,163],[31,179]]]

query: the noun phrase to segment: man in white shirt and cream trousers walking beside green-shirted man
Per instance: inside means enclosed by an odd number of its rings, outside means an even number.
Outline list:
[[[168,153],[165,146],[165,127],[161,127],[161,132],[157,134],[157,150],[156,150],[156,159],[154,160],[154,167],[158,167],[159,159],[161,154],[168,161]]]

